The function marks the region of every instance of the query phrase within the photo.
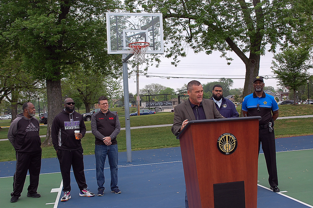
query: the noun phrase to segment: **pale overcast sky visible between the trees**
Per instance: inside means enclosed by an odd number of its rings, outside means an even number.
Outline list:
[[[194,79],[201,82],[201,84],[206,84],[208,82],[218,81],[222,77],[233,79],[234,84],[232,89],[244,87],[245,65],[235,53],[229,53],[229,56],[234,60],[230,65],[227,65],[225,58],[220,58],[219,52],[213,52],[211,55],[207,55],[205,52],[195,54],[190,48],[186,52],[187,57],[179,57],[181,62],[177,67],[171,64],[172,58],[165,58],[164,54],[161,55],[162,62],[158,68],[149,66],[147,71],[149,77],[145,75],[139,76],[139,89],[144,88],[147,84],[157,83],[173,88],[176,91],[177,88],[181,88],[183,84],[187,84]],[[265,56],[261,56],[259,75],[268,76],[269,78],[274,76],[270,68],[272,66],[272,59],[273,54],[269,52]],[[170,79],[167,79],[167,77],[170,77]],[[277,87],[276,79],[266,79],[264,83],[265,86],[273,86],[275,89]],[[136,76],[131,76],[128,79],[128,87],[130,93],[136,94]]]

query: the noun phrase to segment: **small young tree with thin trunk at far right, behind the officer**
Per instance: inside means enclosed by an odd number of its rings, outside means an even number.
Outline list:
[[[310,59],[308,48],[289,48],[274,56],[275,61],[272,61],[274,74],[281,86],[289,86],[295,91],[306,83],[310,78],[308,69],[313,65]],[[295,96],[294,96],[295,105]]]

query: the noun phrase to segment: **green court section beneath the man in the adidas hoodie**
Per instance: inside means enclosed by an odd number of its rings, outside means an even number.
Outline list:
[[[26,177],[24,189],[17,202],[11,203],[10,193],[13,191],[13,177],[0,178],[3,194],[0,195],[0,207],[15,208],[53,208],[58,192],[50,193],[51,189],[59,189],[62,181],[61,173],[41,174],[39,177],[38,193],[40,198],[27,197],[29,175]],[[58,199],[59,200],[59,199]]]

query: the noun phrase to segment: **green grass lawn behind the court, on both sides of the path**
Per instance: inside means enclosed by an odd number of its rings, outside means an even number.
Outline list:
[[[241,106],[238,106],[239,109]],[[313,105],[281,105],[280,117],[295,116],[295,115],[311,115],[313,114]],[[158,112],[152,115],[132,116],[131,127],[133,126],[147,126],[158,124],[172,124],[174,114],[170,112]],[[3,122],[3,123],[2,123]],[[6,121],[0,121],[2,126]],[[121,127],[125,127],[124,117],[120,117]],[[299,119],[279,119],[275,121],[275,137],[290,137],[300,135],[311,135],[313,118],[299,118]],[[85,122],[87,130],[91,130],[90,121]],[[45,135],[47,126],[40,126],[40,135]],[[7,138],[8,128],[3,128],[0,131],[0,139]],[[41,140],[44,141],[45,138]],[[125,130],[122,130],[117,138],[119,151],[126,151],[126,136]],[[1,153],[0,161],[15,160],[15,151],[9,141],[0,141]],[[93,134],[86,134],[82,139],[84,154],[94,154],[95,138]],[[172,134],[171,126],[145,129],[131,129],[131,148],[132,150],[146,150],[165,147],[179,146],[179,141]],[[56,157],[54,148],[52,146],[42,147],[42,158]]]

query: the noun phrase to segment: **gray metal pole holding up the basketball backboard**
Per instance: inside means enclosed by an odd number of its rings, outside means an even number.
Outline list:
[[[130,109],[129,109],[129,94],[128,94],[127,60],[131,58],[132,56],[133,56],[132,53],[128,55],[122,54],[127,162],[131,162],[131,121],[129,118]]]

